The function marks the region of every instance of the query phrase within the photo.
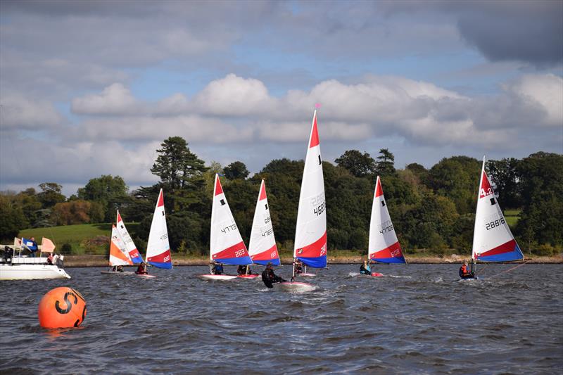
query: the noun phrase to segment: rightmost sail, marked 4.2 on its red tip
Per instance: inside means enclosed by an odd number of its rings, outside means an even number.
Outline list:
[[[524,254],[512,236],[510,227],[502,215],[495,192],[485,172],[485,157],[481,167],[475,228],[473,232],[472,273],[476,262],[511,262],[523,260]],[[475,269],[474,269],[475,267]]]

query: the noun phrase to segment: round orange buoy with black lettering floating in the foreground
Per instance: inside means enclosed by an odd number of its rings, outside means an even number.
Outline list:
[[[44,328],[77,327],[86,317],[86,300],[75,289],[51,289],[39,302],[39,325]]]

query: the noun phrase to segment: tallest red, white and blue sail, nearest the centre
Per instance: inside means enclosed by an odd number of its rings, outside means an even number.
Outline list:
[[[317,111],[312,116],[311,132],[295,232],[293,258],[310,267],[327,267],[327,205],[324,199],[321,147]]]

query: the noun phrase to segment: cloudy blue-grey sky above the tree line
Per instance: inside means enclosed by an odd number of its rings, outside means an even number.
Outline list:
[[[563,1],[0,1],[0,191],[207,165],[563,153]]]

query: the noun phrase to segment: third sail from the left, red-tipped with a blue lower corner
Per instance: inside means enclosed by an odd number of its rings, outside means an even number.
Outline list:
[[[158,268],[172,268],[170,243],[168,242],[168,229],[164,212],[163,189],[160,189],[160,193],[158,193],[151,231],[148,234],[146,262]]]

